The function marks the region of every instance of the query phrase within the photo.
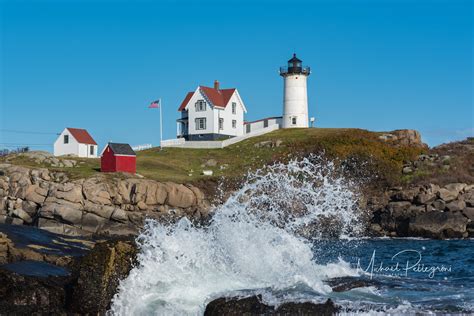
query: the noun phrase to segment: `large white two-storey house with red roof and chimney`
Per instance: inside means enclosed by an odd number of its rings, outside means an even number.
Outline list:
[[[181,118],[177,120],[177,136],[186,140],[218,140],[242,136],[244,102],[237,89],[220,89],[219,82],[214,87],[199,86],[188,92],[179,109]]]

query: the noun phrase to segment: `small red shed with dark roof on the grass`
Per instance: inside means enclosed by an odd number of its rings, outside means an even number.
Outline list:
[[[100,157],[102,172],[137,171],[137,155],[129,144],[108,143]]]

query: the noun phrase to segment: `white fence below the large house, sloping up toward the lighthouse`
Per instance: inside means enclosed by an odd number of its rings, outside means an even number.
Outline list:
[[[225,140],[186,141],[184,138],[168,139],[161,142],[161,147],[218,149],[227,147],[232,144],[236,144],[251,137],[273,132],[279,128],[280,125],[273,124],[260,130],[256,130],[242,136],[232,137]]]

